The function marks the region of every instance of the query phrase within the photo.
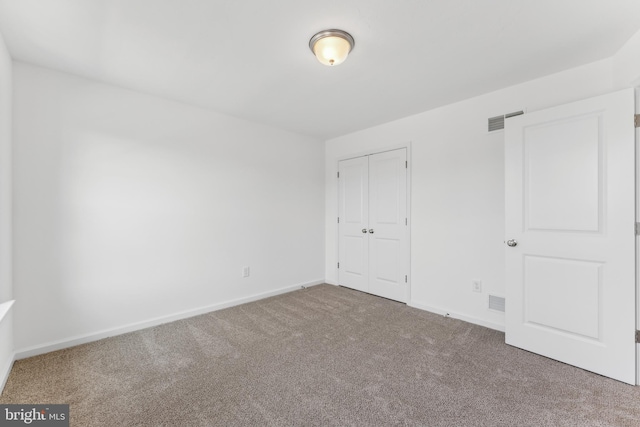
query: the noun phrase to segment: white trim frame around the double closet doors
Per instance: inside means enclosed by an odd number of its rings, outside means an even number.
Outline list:
[[[349,159],[355,159],[357,157],[363,157],[363,156],[371,156],[373,154],[378,154],[378,153],[384,153],[387,151],[394,151],[394,150],[400,150],[405,148],[407,150],[407,242],[406,242],[406,251],[407,251],[407,259],[404,260],[405,262],[405,269],[407,271],[407,298],[406,298],[406,305],[410,305],[411,304],[411,276],[412,271],[411,271],[411,168],[412,168],[412,161],[411,161],[411,141],[407,141],[405,143],[400,143],[400,144],[389,144],[389,145],[381,145],[379,148],[377,149],[368,149],[365,151],[355,151],[352,152],[350,154],[345,154],[342,156],[339,156],[337,158],[335,158],[335,171],[333,174],[333,179],[335,180],[335,188],[336,188],[336,211],[335,211],[335,218],[337,220],[337,218],[340,215],[340,182],[338,181],[338,170],[339,170],[339,165],[340,162],[343,160],[349,160]],[[336,233],[335,233],[335,250],[336,250],[336,259],[340,259],[340,227],[336,227]],[[338,271],[338,265],[336,264],[334,266],[335,268],[335,274],[336,274],[336,282],[338,284],[338,286],[340,286],[340,271]]]

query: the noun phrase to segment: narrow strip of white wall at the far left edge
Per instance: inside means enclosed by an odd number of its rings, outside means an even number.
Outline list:
[[[13,298],[11,259],[11,56],[0,35],[0,391],[13,363],[12,311],[2,304]],[[4,306],[6,307],[6,305]]]

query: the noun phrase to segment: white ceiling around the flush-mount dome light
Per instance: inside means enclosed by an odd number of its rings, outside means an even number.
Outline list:
[[[638,0],[0,0],[14,59],[330,138],[612,56]],[[321,65],[308,41],[355,48]]]

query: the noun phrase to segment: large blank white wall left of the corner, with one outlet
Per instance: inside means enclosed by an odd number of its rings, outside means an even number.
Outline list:
[[[20,355],[322,281],[322,141],[13,71]]]

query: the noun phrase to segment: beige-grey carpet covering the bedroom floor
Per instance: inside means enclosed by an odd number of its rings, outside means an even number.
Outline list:
[[[74,426],[639,426],[640,388],[321,285],[16,362]]]

